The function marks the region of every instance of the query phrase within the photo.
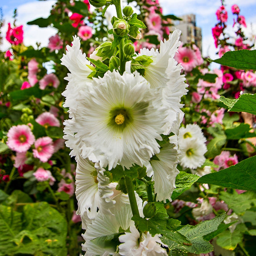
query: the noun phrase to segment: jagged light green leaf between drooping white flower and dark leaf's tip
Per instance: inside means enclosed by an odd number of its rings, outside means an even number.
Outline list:
[[[192,184],[194,184],[199,179],[198,175],[180,172],[175,181],[176,189],[172,192],[172,200],[181,195],[184,191],[191,188]]]

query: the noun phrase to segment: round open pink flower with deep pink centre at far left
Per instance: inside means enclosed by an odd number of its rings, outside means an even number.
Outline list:
[[[35,136],[28,125],[12,126],[7,133],[6,144],[18,153],[28,151],[35,142]]]

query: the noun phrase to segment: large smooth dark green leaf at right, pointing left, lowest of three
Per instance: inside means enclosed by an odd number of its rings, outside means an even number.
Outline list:
[[[204,175],[197,182],[256,192],[256,156],[219,172]]]

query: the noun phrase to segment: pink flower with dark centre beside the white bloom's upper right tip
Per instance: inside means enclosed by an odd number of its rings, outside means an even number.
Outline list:
[[[181,64],[185,72],[189,72],[197,66],[195,52],[189,47],[180,46],[178,52],[175,53],[174,58]]]

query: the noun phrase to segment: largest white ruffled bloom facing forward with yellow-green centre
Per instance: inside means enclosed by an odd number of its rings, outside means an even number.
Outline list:
[[[74,138],[81,141],[83,158],[112,169],[119,163],[127,168],[142,166],[159,153],[165,112],[154,107],[160,99],[151,92],[139,73],[122,76],[113,71],[87,83],[88,90],[74,113]],[[156,140],[157,139],[157,140]]]

